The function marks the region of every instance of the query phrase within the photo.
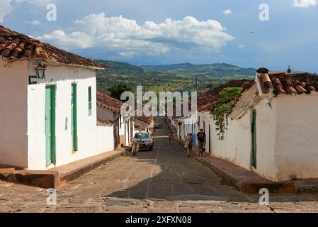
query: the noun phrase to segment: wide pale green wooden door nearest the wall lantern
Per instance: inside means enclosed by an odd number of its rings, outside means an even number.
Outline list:
[[[55,164],[55,86],[45,88],[45,157]]]

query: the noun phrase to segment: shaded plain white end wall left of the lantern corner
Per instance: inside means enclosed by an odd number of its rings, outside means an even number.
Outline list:
[[[26,61],[0,57],[0,164],[28,167],[27,70]]]

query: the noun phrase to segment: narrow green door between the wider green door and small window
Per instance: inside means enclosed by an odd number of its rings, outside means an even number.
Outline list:
[[[72,133],[72,152],[74,153],[77,151],[77,91],[76,91],[76,84],[72,84],[71,133]]]

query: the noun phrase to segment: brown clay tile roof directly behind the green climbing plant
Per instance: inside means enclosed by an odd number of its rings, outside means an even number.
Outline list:
[[[220,92],[227,87],[242,87],[243,92],[252,87],[254,80],[249,79],[232,79],[225,84],[221,84],[216,89],[198,96],[198,111],[211,111],[220,102]]]

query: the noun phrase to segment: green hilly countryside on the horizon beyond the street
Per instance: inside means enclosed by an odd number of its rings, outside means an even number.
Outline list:
[[[148,91],[198,91],[204,92],[212,84],[220,84],[229,79],[253,79],[256,70],[244,69],[228,64],[137,66],[126,62],[98,60],[109,68],[98,70],[97,89],[109,94],[115,84],[129,84],[132,89],[143,85]]]

